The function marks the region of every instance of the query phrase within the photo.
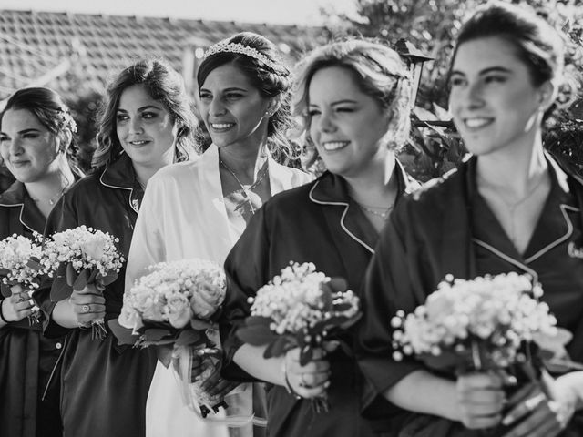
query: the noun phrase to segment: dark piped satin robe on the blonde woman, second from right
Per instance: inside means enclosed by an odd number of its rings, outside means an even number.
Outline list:
[[[401,193],[415,185],[400,166],[395,168],[394,175]],[[231,361],[241,344],[235,331],[249,315],[248,296],[280,274],[291,260],[313,262],[326,275],[347,279],[349,288],[358,293],[377,239],[371,223],[349,198],[343,178],[331,173],[268,201],[251,219],[225,263],[228,291],[220,322],[229,361],[223,368],[224,376],[252,381]],[[343,338],[351,348],[353,330]],[[328,389],[330,412],[315,414],[310,400],[296,400],[283,387],[268,384],[270,435],[373,435],[377,424],[363,420],[359,413],[362,376],[356,361],[340,349],[332,352],[329,361],[332,366],[332,384]]]

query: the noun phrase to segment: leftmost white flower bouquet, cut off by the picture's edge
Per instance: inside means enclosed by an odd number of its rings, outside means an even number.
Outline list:
[[[41,263],[43,255],[43,238],[34,233],[33,239],[27,239],[22,235],[13,235],[0,241],[0,290],[2,296],[12,296],[11,287],[21,284],[29,290],[38,289],[45,275],[52,276],[50,264]],[[28,316],[30,324],[38,322],[40,311],[35,305],[33,314]]]

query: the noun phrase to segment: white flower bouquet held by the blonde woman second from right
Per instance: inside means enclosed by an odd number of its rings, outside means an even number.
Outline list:
[[[314,349],[334,340],[361,316],[360,301],[347,290],[344,279],[326,277],[311,262],[291,262],[249,302],[251,317],[237,331],[238,337],[254,346],[267,344],[265,358],[300,348],[302,365],[312,360]],[[327,397],[313,399],[312,405],[316,412],[327,411]]]

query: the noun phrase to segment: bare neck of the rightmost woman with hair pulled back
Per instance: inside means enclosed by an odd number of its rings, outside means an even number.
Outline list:
[[[542,137],[537,135],[523,147],[505,147],[499,153],[477,159],[478,185],[486,184],[521,197],[547,172]]]

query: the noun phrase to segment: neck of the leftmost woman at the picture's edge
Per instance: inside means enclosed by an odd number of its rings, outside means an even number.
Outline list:
[[[51,165],[43,178],[34,182],[25,182],[25,187],[28,195],[35,199],[37,204],[52,205],[73,182],[75,182],[73,171],[66,162],[66,158],[61,156],[56,158],[54,165]]]

